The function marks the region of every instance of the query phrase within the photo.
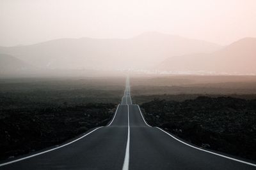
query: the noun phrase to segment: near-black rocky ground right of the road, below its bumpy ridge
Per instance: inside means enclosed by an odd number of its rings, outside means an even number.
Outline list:
[[[150,125],[202,148],[256,160],[256,100],[197,97],[141,104]]]

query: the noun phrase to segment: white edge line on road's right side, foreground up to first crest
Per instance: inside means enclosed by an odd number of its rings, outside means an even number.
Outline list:
[[[164,133],[168,134],[168,135],[171,136],[173,139],[176,139],[177,141],[179,141],[179,142],[181,142],[181,143],[183,143],[183,144],[185,144],[185,145],[188,145],[188,146],[190,146],[190,147],[192,147],[192,148],[195,148],[195,149],[197,149],[197,150],[202,150],[202,151],[204,151],[204,152],[211,153],[211,154],[213,154],[213,155],[218,155],[218,156],[223,157],[223,158],[226,158],[226,159],[231,159],[231,160],[234,160],[234,161],[237,161],[237,162],[241,162],[241,163],[243,163],[243,164],[248,164],[248,165],[250,165],[250,166],[255,166],[255,167],[256,167],[256,164],[252,164],[252,163],[250,163],[250,162],[245,162],[245,161],[243,161],[243,160],[234,159],[234,158],[232,158],[232,157],[227,157],[227,156],[221,155],[221,154],[219,154],[219,153],[214,153],[214,152],[211,152],[211,151],[208,151],[208,150],[203,150],[203,149],[201,149],[201,148],[197,148],[196,146],[189,145],[188,143],[185,143],[184,141],[181,141],[180,139],[175,138],[174,136],[172,136],[172,135],[169,134],[168,132],[164,131],[163,129],[161,129],[161,128],[159,128],[159,127],[156,127],[156,128],[159,129],[159,130],[161,130],[161,131],[163,131]]]

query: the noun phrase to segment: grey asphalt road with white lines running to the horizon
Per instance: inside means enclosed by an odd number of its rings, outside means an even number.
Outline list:
[[[253,163],[196,148],[150,127],[132,104],[128,79],[107,126],[50,149],[2,163],[0,169],[256,169]]]

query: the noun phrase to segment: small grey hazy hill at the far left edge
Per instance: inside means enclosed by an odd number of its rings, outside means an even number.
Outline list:
[[[26,62],[12,55],[0,53],[0,74],[16,74],[30,69],[33,67]]]

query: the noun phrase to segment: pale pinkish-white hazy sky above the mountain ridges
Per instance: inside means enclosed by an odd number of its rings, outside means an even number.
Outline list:
[[[256,37],[255,0],[1,0],[0,45],[158,31],[221,45]]]

